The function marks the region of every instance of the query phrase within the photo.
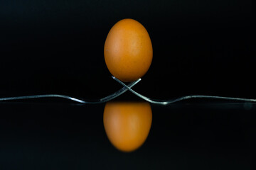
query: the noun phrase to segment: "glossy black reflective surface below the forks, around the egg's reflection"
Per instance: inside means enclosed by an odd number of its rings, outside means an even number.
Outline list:
[[[252,169],[256,105],[151,105],[144,145],[124,153],[105,134],[105,104],[0,103],[0,169]]]

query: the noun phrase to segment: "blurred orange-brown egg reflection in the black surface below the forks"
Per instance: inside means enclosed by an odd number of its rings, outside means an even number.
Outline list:
[[[146,102],[108,102],[103,114],[107,137],[117,149],[132,152],[149,135],[152,111]]]

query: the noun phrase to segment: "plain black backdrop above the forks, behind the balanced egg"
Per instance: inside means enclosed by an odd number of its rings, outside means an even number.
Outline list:
[[[153,44],[149,72],[134,86],[140,93],[255,98],[250,0],[0,0],[0,96],[94,99],[121,88],[107,70],[103,47],[123,18],[142,23]]]

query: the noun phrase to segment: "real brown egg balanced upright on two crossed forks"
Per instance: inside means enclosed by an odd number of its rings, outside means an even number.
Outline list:
[[[153,58],[149,33],[133,19],[117,22],[107,35],[104,56],[107,68],[117,79],[129,82],[143,77]]]

